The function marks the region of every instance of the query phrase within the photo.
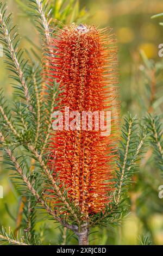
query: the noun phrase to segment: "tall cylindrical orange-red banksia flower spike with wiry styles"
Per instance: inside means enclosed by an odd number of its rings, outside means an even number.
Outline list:
[[[104,211],[114,191],[119,133],[117,47],[114,34],[108,31],[84,25],[64,27],[57,38],[49,39],[43,59],[46,84],[53,87],[57,81],[62,90],[54,109],[63,114],[62,125],[51,135],[48,166],[86,218]],[[111,113],[109,135],[98,129],[104,114],[107,125],[107,111]]]

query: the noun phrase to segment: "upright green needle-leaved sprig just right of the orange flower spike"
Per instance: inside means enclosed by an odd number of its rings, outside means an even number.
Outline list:
[[[120,160],[117,162],[118,170],[115,178],[116,188],[114,198],[116,204],[121,202],[121,196],[128,191],[128,186],[133,182],[132,177],[137,167],[139,167],[140,159],[144,153],[145,139],[147,129],[141,124],[138,125],[137,118],[128,114],[124,117],[122,126],[122,140],[120,147]]]

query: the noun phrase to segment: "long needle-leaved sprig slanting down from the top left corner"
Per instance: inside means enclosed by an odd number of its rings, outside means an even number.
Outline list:
[[[26,106],[32,112],[33,107],[30,103],[28,77],[26,76],[28,60],[22,56],[23,51],[18,50],[20,39],[18,39],[17,27],[12,26],[11,14],[7,14],[7,7],[2,2],[0,2],[0,28],[1,42],[4,45],[4,53],[7,57],[5,64],[7,64],[7,69],[11,71],[10,77],[16,81],[16,84],[14,84],[16,95],[23,100],[27,100]]]

